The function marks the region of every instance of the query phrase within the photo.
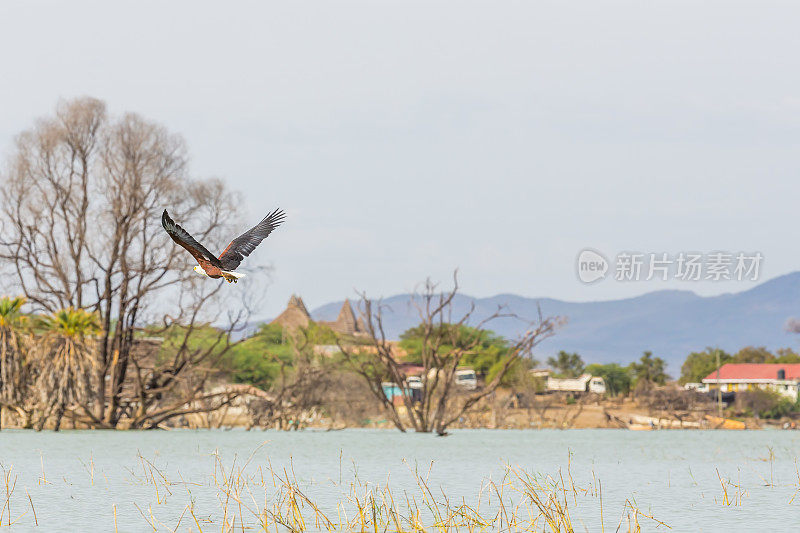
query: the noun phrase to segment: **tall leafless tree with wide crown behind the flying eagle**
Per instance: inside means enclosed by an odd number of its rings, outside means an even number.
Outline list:
[[[219,357],[245,318],[227,317],[230,326],[214,330],[210,348],[190,341],[198,326],[226,321],[225,299],[243,291],[223,293],[219,283],[197,277],[191,256],[176,250],[160,227],[169,207],[219,249],[221,235],[232,232],[238,197],[220,181],[190,179],[186,166],[179,136],[135,114],[109,117],[102,101],[79,98],[21,133],[2,175],[6,288],[21,291],[34,312],[74,308],[99,319],[94,391],[77,407],[93,427],[117,427],[123,419],[152,427],[180,414],[185,409],[162,402],[184,405],[202,394],[202,383],[187,388],[183,378]],[[145,368],[134,360],[135,334],[154,322],[163,331],[179,328],[183,338]]]

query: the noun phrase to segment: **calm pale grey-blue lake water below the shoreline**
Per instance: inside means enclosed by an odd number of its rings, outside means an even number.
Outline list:
[[[788,531],[800,517],[800,495],[792,501],[800,489],[799,455],[800,432],[775,430],[462,430],[447,437],[388,430],[6,430],[0,432],[0,485],[8,479],[16,486],[8,497],[0,487],[0,500],[10,502],[17,531],[153,531],[150,523],[171,531],[181,514],[178,531],[220,531],[219,480],[249,457],[246,472],[267,478],[260,494],[248,495],[254,508],[269,505],[264,498],[274,486],[264,472],[271,465],[280,473],[293,470],[298,486],[333,516],[337,505],[338,512],[346,507],[342,487],[354,479],[362,487],[388,479],[395,494],[409,494],[417,487],[414,468],[426,473],[436,495],[488,502],[486,481],[499,482],[509,464],[541,476],[571,476],[579,487],[601,483],[605,531],[617,528],[626,500],[672,531]],[[723,484],[731,505],[724,504]],[[186,513],[192,501],[197,521]],[[602,529],[596,495],[570,494],[568,503],[576,531]],[[3,513],[5,526],[7,505]],[[253,517],[241,515],[236,531]],[[666,530],[639,521],[645,531]]]

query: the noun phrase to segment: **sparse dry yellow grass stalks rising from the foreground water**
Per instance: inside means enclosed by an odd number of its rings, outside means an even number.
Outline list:
[[[266,444],[266,443],[265,443]],[[120,472],[110,473],[98,468],[94,458],[80,461],[83,469],[77,469],[81,477],[82,490],[93,493],[95,502],[108,502],[103,516],[92,517],[87,527],[114,531],[141,531],[147,524],[148,531],[189,531],[195,533],[248,531],[304,532],[304,531],[628,531],[667,530],[670,526],[655,517],[652,512],[642,510],[636,499],[624,500],[619,491],[614,491],[611,509],[604,502],[603,484],[591,471],[591,477],[576,482],[573,476],[572,455],[565,469],[553,475],[533,473],[512,465],[505,465],[499,479],[484,479],[476,486],[475,496],[454,498],[445,487],[434,486],[431,480],[433,463],[424,467],[405,463],[405,470],[392,479],[387,475],[384,482],[374,483],[361,479],[353,464],[351,480],[342,480],[341,455],[338,480],[310,480],[298,477],[294,464],[273,467],[267,459],[256,460],[262,446],[254,450],[246,460],[234,457],[226,462],[215,452],[209,456],[206,470],[192,469],[191,480],[180,473],[167,474],[160,466],[161,460],[148,459],[138,454],[137,464]],[[260,455],[263,457],[263,455]],[[708,479],[706,490],[712,495],[706,504],[702,488],[689,470],[694,493],[700,500],[688,505],[703,505],[705,512],[715,509],[741,509],[747,505],[749,492],[759,487],[776,489],[774,498],[785,498],[788,505],[800,499],[800,467],[795,460],[794,472],[789,480],[775,479],[773,482],[771,461],[774,453],[770,449],[766,476],[758,474],[761,483],[753,478],[747,485],[742,483],[741,468],[733,476],[713,466],[716,479]],[[38,496],[43,492],[65,490],[73,481],[61,474],[48,479],[42,459],[41,475],[36,478],[38,490],[33,498],[18,482],[17,470],[0,463],[0,528],[16,526],[31,528],[41,526],[49,529],[53,520],[59,519],[60,511],[46,509],[42,515],[34,507],[40,505]],[[766,470],[766,465],[762,466]],[[127,474],[126,474],[127,472]],[[31,472],[28,472],[30,475]],[[111,479],[109,479],[109,474]],[[72,474],[68,474],[70,478]],[[24,479],[25,476],[19,476]],[[62,484],[63,481],[63,484]],[[454,482],[457,480],[454,480]],[[718,485],[716,484],[718,481]],[[788,482],[790,481],[790,482]],[[788,483],[787,483],[788,482]],[[89,485],[87,487],[87,485]],[[667,486],[670,486],[669,478]],[[92,489],[91,487],[96,487]],[[133,489],[132,489],[133,488]],[[635,487],[631,487],[635,490]],[[71,490],[71,489],[70,489]],[[778,492],[780,490],[781,492]],[[96,492],[93,492],[96,491]],[[118,492],[120,491],[120,492]],[[463,494],[463,487],[459,488]],[[87,493],[85,493],[87,494]],[[60,492],[55,494],[60,495]],[[120,500],[121,498],[121,500]],[[51,500],[52,501],[52,500]],[[709,506],[713,501],[713,505]],[[777,501],[777,500],[776,500]],[[620,509],[621,507],[621,509]],[[133,510],[134,514],[131,514]],[[123,511],[120,516],[120,511]],[[730,511],[724,511],[730,512]],[[138,513],[138,516],[137,514]],[[72,516],[71,518],[74,518]],[[81,518],[81,520],[85,517]],[[118,520],[119,519],[119,520]],[[142,523],[142,521],[144,523]],[[106,524],[106,526],[103,526]]]

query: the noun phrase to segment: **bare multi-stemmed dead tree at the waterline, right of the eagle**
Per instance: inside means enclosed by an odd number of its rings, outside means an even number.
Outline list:
[[[488,326],[501,318],[518,318],[500,307],[489,316],[478,319],[474,303],[462,314],[454,314],[458,294],[458,276],[453,275],[453,287],[440,291],[430,279],[422,291],[413,295],[421,333],[421,397],[416,398],[406,380],[396,344],[387,340],[384,329],[385,308],[362,295],[361,319],[368,333],[365,343],[339,341],[339,348],[349,366],[369,385],[374,397],[385,407],[392,423],[401,431],[436,432],[444,435],[447,428],[464,413],[497,390],[503,378],[520,359],[531,356],[533,348],[552,336],[561,323],[559,317],[544,317],[541,312],[535,322],[517,339],[499,361],[493,378],[483,387],[462,392],[455,384],[455,374],[467,354],[474,353],[491,335]],[[473,334],[464,335],[463,326],[471,326]],[[382,383],[391,382],[400,389],[402,406],[396,405]]]

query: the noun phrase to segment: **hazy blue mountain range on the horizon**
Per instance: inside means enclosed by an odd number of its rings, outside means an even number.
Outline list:
[[[384,299],[389,307],[384,314],[389,338],[396,339],[419,323],[416,310],[409,305],[410,297],[400,294]],[[605,302],[564,302],[513,294],[490,298],[459,295],[454,302],[454,315],[465,312],[471,302],[476,306],[476,320],[494,312],[498,305],[531,319],[538,316],[537,305],[545,315],[566,317],[567,324],[537,347],[535,355],[540,361],[567,350],[578,352],[587,363],[627,364],[638,359],[644,350],[651,350],[665,359],[670,372],[677,376],[687,354],[708,346],[735,352],[744,346],[797,349],[800,344],[797,335],[785,330],[790,317],[800,317],[800,272],[743,292],[708,297],[673,290]],[[311,315],[315,320],[335,320],[342,303],[323,305]],[[501,319],[493,322],[491,329],[513,338],[524,331],[525,324]]]

